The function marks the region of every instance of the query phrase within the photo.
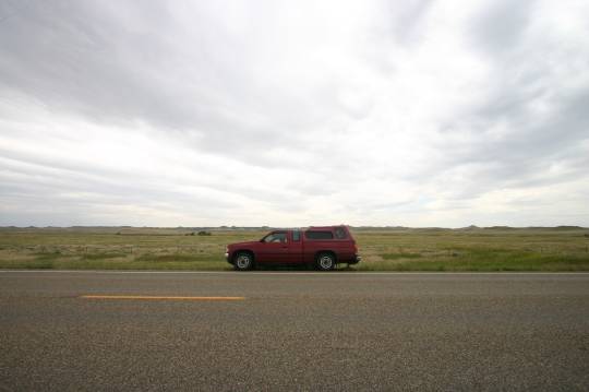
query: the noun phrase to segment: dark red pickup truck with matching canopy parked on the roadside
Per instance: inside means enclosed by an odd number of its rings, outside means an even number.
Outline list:
[[[338,263],[361,260],[347,226],[274,230],[260,241],[228,245],[225,258],[239,271],[261,264],[306,264],[329,271]]]

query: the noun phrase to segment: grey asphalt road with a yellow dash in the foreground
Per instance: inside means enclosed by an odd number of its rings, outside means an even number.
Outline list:
[[[589,274],[0,271],[0,390],[587,391]]]

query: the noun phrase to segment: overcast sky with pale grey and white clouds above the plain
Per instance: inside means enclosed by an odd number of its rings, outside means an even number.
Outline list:
[[[589,226],[587,1],[0,1],[0,225]]]

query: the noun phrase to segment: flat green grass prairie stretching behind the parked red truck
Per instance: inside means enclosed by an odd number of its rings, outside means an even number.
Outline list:
[[[589,271],[589,229],[353,229],[356,271]],[[225,246],[265,231],[1,228],[0,269],[230,270]],[[344,269],[341,265],[340,269]]]

